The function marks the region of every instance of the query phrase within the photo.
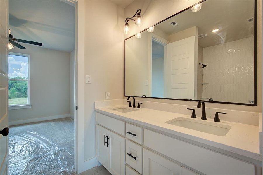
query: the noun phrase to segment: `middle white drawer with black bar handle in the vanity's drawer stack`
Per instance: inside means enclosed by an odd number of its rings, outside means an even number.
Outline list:
[[[129,155],[128,155],[129,154]],[[143,147],[126,139],[126,163],[142,174]]]

